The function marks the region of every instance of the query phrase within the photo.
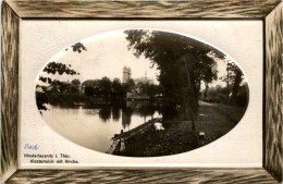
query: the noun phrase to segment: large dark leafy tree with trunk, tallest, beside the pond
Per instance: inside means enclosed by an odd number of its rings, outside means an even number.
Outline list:
[[[223,58],[223,54],[177,34],[147,29],[130,29],[125,34],[134,56],[144,56],[160,70],[158,81],[164,89],[167,105],[172,108],[181,106],[185,119],[190,116],[194,124],[200,82],[209,83],[216,78],[214,59]]]

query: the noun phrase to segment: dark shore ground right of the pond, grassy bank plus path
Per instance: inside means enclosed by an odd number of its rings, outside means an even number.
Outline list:
[[[186,152],[207,145],[231,131],[243,118],[245,108],[200,102],[196,128],[190,121],[163,122],[164,130],[152,125],[124,142],[125,149],[116,155],[158,157]],[[205,133],[200,136],[199,133]]]

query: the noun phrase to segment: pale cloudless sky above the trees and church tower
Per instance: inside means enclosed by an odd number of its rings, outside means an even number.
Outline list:
[[[127,49],[128,42],[125,36],[123,30],[97,35],[81,41],[87,51],[83,50],[78,53],[69,47],[49,60],[49,62],[56,61],[71,64],[71,69],[78,72],[79,75],[47,75],[45,73],[40,75],[65,82],[78,78],[83,83],[86,79],[102,78],[103,76],[108,76],[111,79],[119,77],[122,82],[122,71],[126,65],[132,69],[132,78],[143,77],[146,73],[148,78],[152,78],[158,84],[157,75],[159,75],[159,71],[156,69],[156,65],[151,68],[151,61],[143,56],[136,58],[133,54],[133,50]],[[217,63],[218,76],[225,75],[225,63],[223,61],[217,61]],[[42,85],[41,82],[38,84]],[[210,87],[217,85],[225,86],[225,83],[218,79],[212,82]],[[205,85],[202,84],[201,89],[204,88]]]

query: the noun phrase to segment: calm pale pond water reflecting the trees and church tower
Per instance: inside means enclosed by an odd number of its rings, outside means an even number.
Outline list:
[[[67,139],[106,152],[111,146],[114,134],[130,131],[152,118],[162,118],[160,108],[149,101],[123,101],[91,106],[60,107],[47,105],[42,111],[45,121]],[[158,130],[162,125],[157,124]]]

